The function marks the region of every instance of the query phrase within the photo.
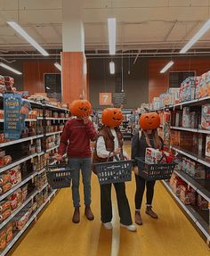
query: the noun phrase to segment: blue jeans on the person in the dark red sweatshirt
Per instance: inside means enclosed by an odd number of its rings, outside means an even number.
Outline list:
[[[74,207],[80,207],[80,196],[79,196],[79,180],[80,180],[80,169],[83,176],[84,186],[84,197],[85,205],[91,204],[91,176],[92,176],[92,158],[69,158],[69,167],[71,170],[72,178],[72,198]]]

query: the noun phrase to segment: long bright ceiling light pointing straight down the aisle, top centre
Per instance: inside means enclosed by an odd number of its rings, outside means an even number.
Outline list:
[[[108,19],[109,54],[116,54],[116,18]]]

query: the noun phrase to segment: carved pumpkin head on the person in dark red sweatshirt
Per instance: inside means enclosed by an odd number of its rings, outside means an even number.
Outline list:
[[[92,113],[92,105],[87,100],[76,100],[71,103],[70,112],[79,118],[88,117]]]

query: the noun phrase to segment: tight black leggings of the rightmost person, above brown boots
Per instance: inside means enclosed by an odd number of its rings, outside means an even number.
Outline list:
[[[145,190],[145,186],[147,186],[147,204],[151,205],[153,195],[154,195],[154,186],[156,181],[147,181],[144,178],[141,178],[138,175],[135,175],[135,184],[136,184],[136,191],[135,191],[135,209],[141,209],[141,203],[143,199],[143,194]]]

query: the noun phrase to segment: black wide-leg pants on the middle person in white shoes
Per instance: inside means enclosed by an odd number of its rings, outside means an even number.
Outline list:
[[[103,223],[110,222],[112,219],[112,205],[111,205],[111,185],[101,185],[101,221]],[[117,194],[117,205],[120,217],[120,223],[124,225],[132,224],[132,217],[130,206],[125,194],[125,183],[115,183]]]

